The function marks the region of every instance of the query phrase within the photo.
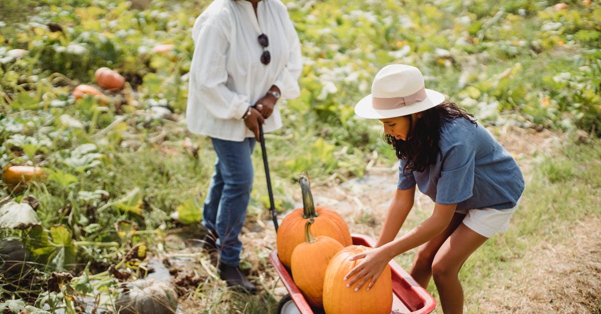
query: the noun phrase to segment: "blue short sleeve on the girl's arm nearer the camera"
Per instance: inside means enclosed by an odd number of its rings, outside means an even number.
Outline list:
[[[453,144],[442,157],[436,203],[460,203],[474,194],[475,149],[473,141],[467,138]]]

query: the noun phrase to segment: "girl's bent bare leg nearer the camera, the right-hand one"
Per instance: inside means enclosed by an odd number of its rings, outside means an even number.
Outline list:
[[[459,282],[459,270],[465,260],[487,239],[465,224],[460,224],[436,253],[432,262],[432,276],[445,314],[463,313],[463,289]]]

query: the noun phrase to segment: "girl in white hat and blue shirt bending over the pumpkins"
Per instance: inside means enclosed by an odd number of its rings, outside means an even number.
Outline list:
[[[516,161],[471,114],[424,87],[416,67],[386,66],[355,106],[357,115],[383,123],[400,164],[376,248],[351,257],[362,260],[344,280],[349,288],[358,283],[355,291],[370,289],[392,258],[419,246],[411,276],[423,287],[433,277],[443,312],[462,313],[459,270],[488,238],[507,230],[524,181]],[[395,239],[415,186],[435,202],[434,211]]]

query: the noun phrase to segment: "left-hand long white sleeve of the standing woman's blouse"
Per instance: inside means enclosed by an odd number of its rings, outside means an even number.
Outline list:
[[[228,36],[215,25],[205,24],[194,38],[191,64],[191,85],[195,88],[198,105],[206,106],[218,119],[242,119],[250,106],[248,96],[230,90],[225,83]]]

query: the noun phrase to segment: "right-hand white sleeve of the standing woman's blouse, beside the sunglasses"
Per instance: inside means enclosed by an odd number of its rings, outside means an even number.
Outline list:
[[[290,20],[288,11],[285,11],[285,20],[288,24],[285,27],[285,32],[286,38],[288,38],[290,54],[288,54],[286,66],[278,74],[273,85],[279,88],[283,99],[294,99],[301,95],[301,88],[298,84],[298,79],[302,71],[301,42]]]

